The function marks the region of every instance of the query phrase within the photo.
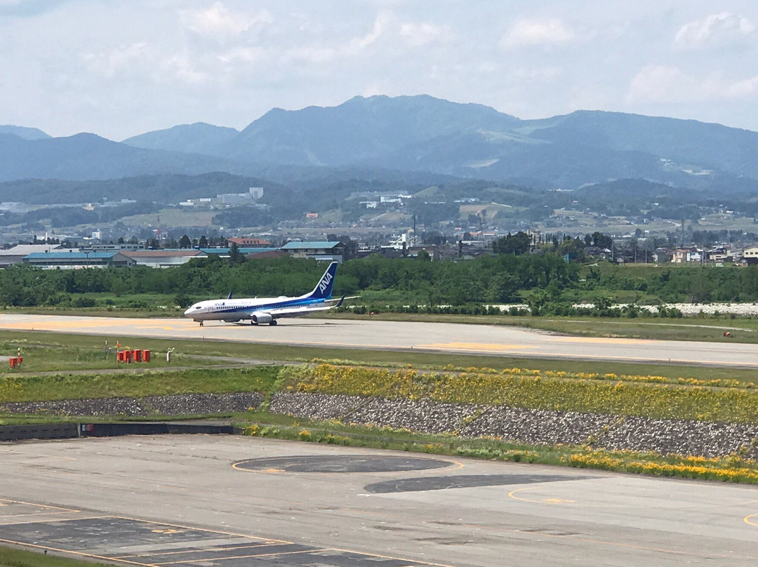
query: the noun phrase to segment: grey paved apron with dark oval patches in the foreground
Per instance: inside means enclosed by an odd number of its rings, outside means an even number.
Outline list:
[[[0,540],[180,567],[758,564],[753,487],[432,459],[233,436],[2,443]]]

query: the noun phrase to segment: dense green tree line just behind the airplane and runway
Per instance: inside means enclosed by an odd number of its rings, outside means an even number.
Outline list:
[[[232,262],[211,256],[168,269],[42,270],[15,265],[0,270],[0,305],[78,305],[74,299],[84,293],[158,293],[181,297],[180,303],[230,292],[236,297],[292,296],[311,290],[323,270],[323,263],[289,257]],[[369,291],[426,305],[521,302],[535,293],[543,302],[557,302],[566,293],[597,297],[621,291],[665,302],[756,301],[758,266],[583,267],[566,262],[560,253],[501,254],[461,262],[372,255],[340,265],[334,296]]]

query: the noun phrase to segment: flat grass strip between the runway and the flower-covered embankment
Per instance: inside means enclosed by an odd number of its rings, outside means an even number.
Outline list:
[[[146,368],[173,368],[193,366],[218,368],[218,366],[246,365],[258,361],[309,362],[318,360],[342,360],[359,365],[438,369],[448,365],[456,368],[531,368],[540,371],[596,372],[599,374],[650,374],[670,378],[694,377],[702,380],[730,378],[738,381],[756,381],[755,371],[741,368],[718,368],[713,366],[651,365],[632,362],[590,362],[578,360],[528,359],[507,356],[475,356],[442,354],[435,352],[392,352],[362,349],[329,349],[319,347],[224,343],[221,341],[124,340],[132,348],[149,349],[153,353],[150,365],[117,365],[114,354],[105,359],[102,337],[66,335],[36,332],[0,331],[0,356],[15,356],[21,348],[23,369],[11,371],[8,366],[0,370],[2,376],[19,376],[43,371],[103,370],[106,368],[134,371]],[[113,345],[114,346],[114,345]],[[171,364],[165,362],[167,349],[174,349]],[[236,361],[236,362],[235,362]]]

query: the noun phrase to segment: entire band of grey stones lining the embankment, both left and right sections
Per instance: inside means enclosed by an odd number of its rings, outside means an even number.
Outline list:
[[[243,412],[263,402],[258,393],[181,394],[145,398],[69,399],[5,403],[0,411],[50,415],[207,415]],[[719,457],[748,448],[758,459],[758,424],[622,417],[508,406],[478,406],[428,399],[276,393],[271,412],[315,420],[406,428],[461,437],[500,437],[534,445],[587,444],[609,450]]]

